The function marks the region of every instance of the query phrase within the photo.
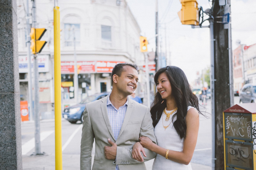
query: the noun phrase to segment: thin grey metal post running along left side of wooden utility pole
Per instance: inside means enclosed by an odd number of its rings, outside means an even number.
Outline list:
[[[210,53],[211,53],[211,113],[212,113],[212,170],[215,169],[215,92],[214,92],[214,20],[210,19]]]

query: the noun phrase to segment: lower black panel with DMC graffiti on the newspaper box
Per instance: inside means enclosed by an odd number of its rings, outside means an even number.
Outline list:
[[[227,166],[253,170],[252,143],[226,140]]]

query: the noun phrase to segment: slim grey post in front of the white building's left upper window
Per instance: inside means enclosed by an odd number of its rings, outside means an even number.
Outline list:
[[[76,103],[78,103],[78,73],[77,73],[77,61],[76,61],[76,36],[75,36],[75,26],[72,26],[73,36],[74,36],[74,97]]]

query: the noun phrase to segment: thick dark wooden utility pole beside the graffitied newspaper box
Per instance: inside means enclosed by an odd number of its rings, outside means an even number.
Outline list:
[[[223,2],[225,4],[223,4]],[[223,15],[230,13],[230,1],[212,1],[214,16],[214,90],[215,90],[215,169],[224,169],[223,115],[222,112],[231,107],[233,101],[231,26],[223,24]],[[220,6],[223,5],[223,6]],[[229,10],[225,11],[224,7]],[[227,27],[228,26],[228,27]],[[231,75],[230,75],[231,74]],[[231,94],[230,94],[231,93]]]

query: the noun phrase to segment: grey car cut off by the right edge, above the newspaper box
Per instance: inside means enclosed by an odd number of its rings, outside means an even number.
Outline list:
[[[256,85],[245,84],[240,91],[240,103],[255,103]]]

